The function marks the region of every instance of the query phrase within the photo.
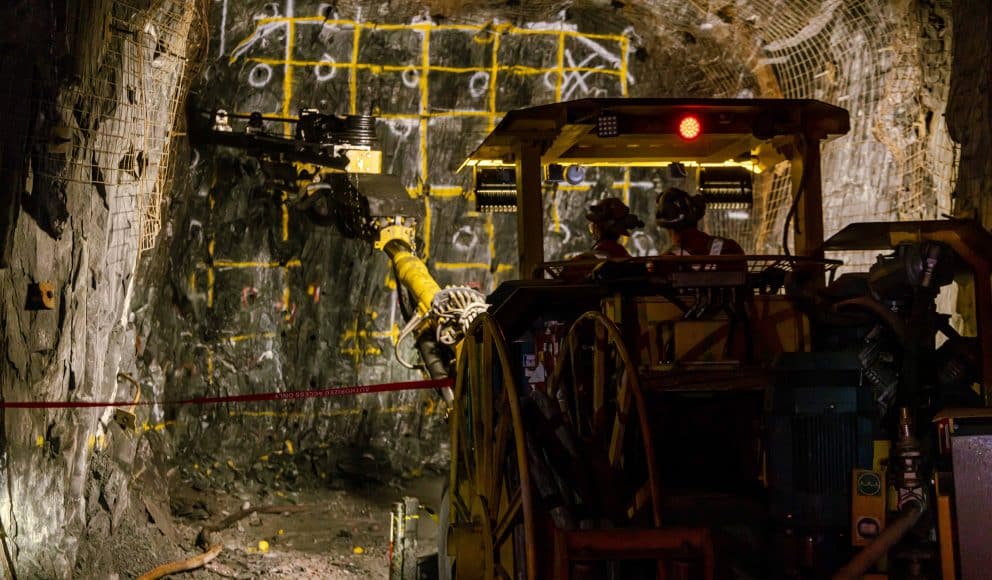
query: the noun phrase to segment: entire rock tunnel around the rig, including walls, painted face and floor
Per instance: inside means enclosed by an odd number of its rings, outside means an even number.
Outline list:
[[[992,225],[990,13],[984,0],[6,3],[2,398],[129,405],[0,411],[5,574],[138,577],[203,554],[197,535],[216,525],[220,553],[186,576],[387,577],[404,496],[422,504],[421,555],[436,551],[428,516],[451,450],[435,390],[162,404],[424,378],[394,356],[420,355],[400,340],[415,305],[385,253],[312,219],[257,156],[191,143],[190,115],[223,109],[240,127],[259,112],[279,136],[306,109],[374,116],[382,170],[421,214],[414,254],[442,288],[489,294],[520,277],[517,217],[476,211],[459,168],[507,112],[574,99],[823,101],[850,114],[822,149],[827,237],[857,221]],[[755,175],[743,219],[713,209],[703,228],[781,253],[789,172]],[[630,253],[658,254],[671,180],[589,167],[547,189],[546,258],[590,247],[587,208],[606,197],[647,224]],[[878,253],[828,257],[860,272]],[[974,302],[960,279],[936,299],[970,337]]]

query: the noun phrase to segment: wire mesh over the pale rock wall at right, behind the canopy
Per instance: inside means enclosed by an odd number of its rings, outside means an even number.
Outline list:
[[[736,17],[760,32],[756,64],[771,67],[780,96],[823,100],[851,114],[850,133],[823,148],[827,236],[856,221],[934,219],[950,209],[958,151],[943,119],[949,3],[897,4],[736,5]],[[695,5],[704,23],[713,18],[710,3]],[[730,94],[734,87],[713,90]],[[721,215],[707,216],[706,225],[736,237],[749,252],[778,253],[790,187],[787,167],[766,172],[755,181],[749,225]],[[848,268],[860,269],[873,256],[843,258]]]

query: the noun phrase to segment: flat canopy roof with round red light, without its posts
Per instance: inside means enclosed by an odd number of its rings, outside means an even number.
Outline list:
[[[678,135],[695,116],[699,137]],[[597,135],[597,119],[615,117],[617,135]],[[580,99],[510,111],[466,164],[512,164],[521,141],[542,144],[544,164],[638,165],[742,160],[777,135],[817,139],[850,129],[846,110],[809,99]]]

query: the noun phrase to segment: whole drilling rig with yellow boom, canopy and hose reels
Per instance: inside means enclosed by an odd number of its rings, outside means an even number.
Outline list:
[[[417,258],[416,204],[370,171],[368,117],[304,111],[282,120],[292,137],[260,115],[230,131],[231,117],[209,115],[208,141],[259,157],[316,223],[385,252],[416,303],[402,335],[456,380],[442,578],[987,578],[992,234],[878,222],[825,240],[820,147],[847,111],[584,99],[507,113],[463,166],[480,211],[518,218],[522,279],[488,298],[442,289]],[[592,166],[677,170],[713,210],[745,212],[755,176],[787,167],[783,253],[546,261],[548,176]],[[878,257],[839,275],[826,254],[851,251]],[[952,283],[971,293],[971,333],[937,311]],[[538,358],[546,380],[528,374]]]

